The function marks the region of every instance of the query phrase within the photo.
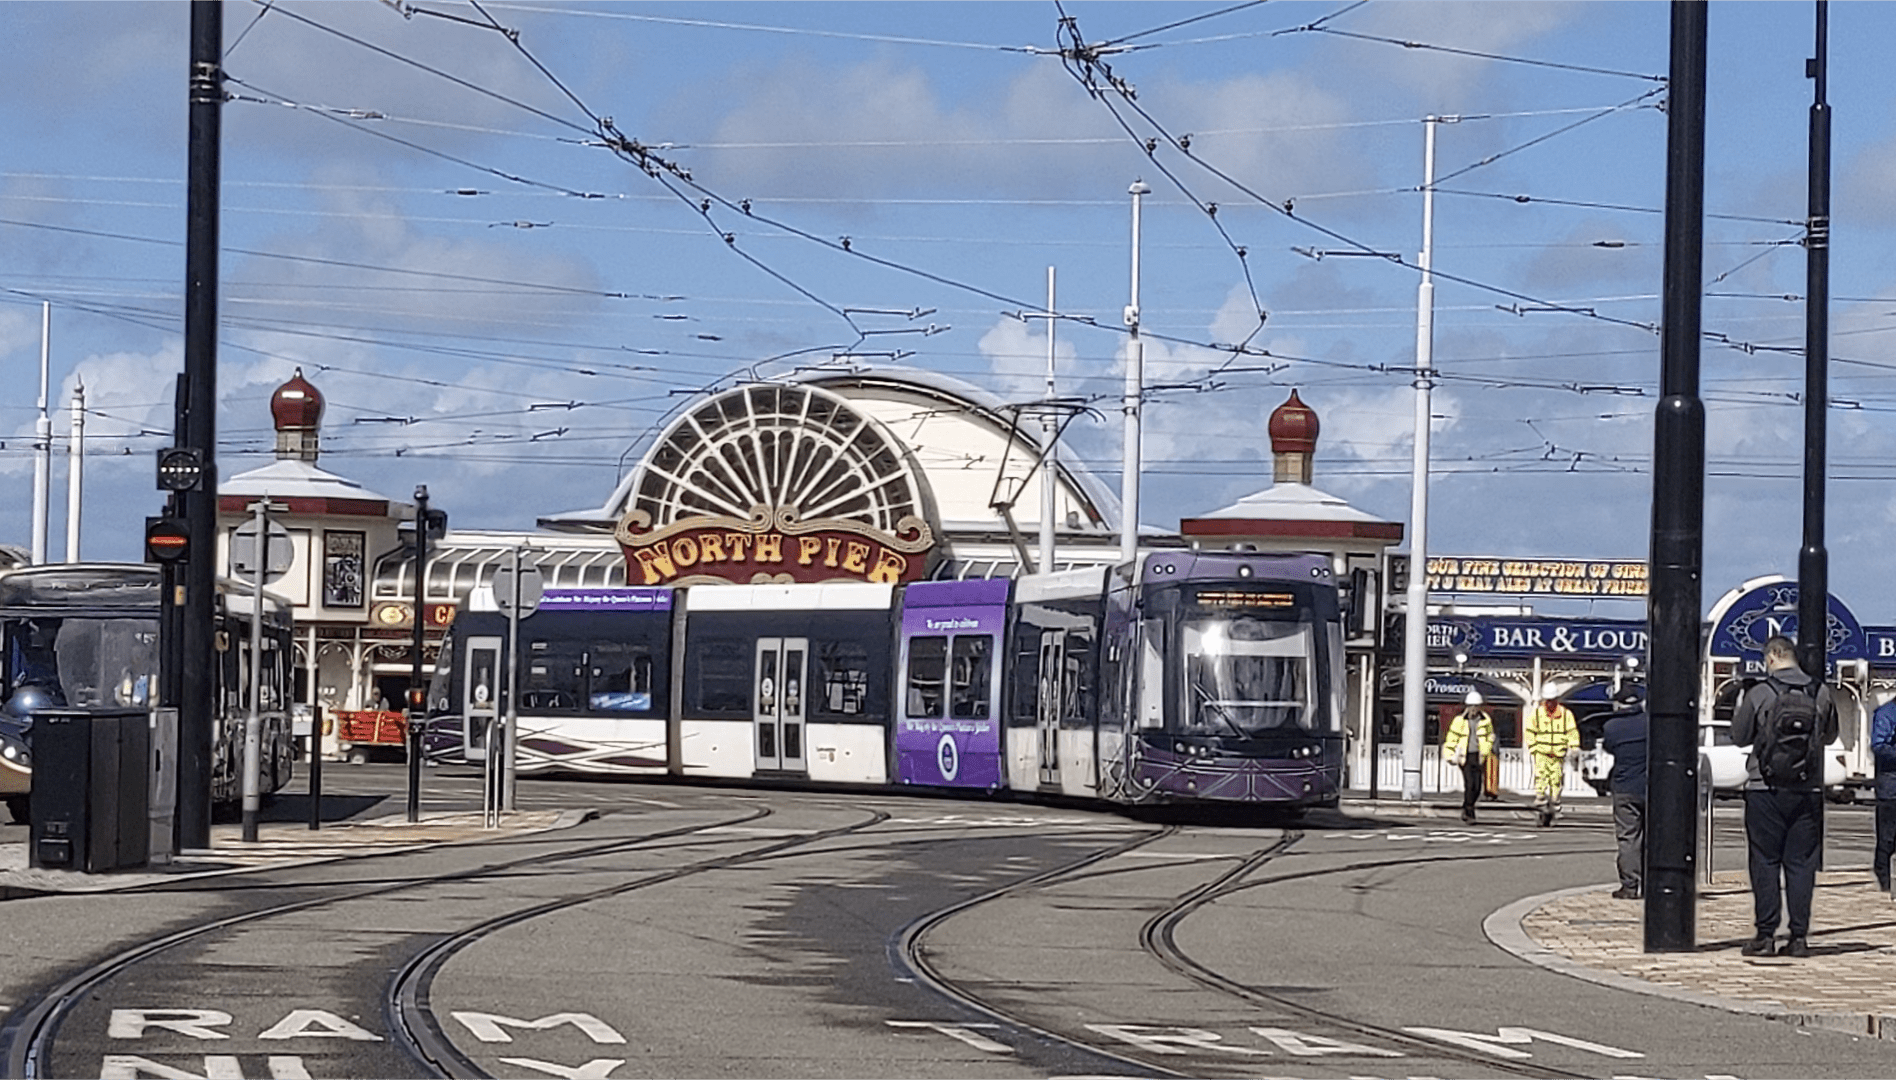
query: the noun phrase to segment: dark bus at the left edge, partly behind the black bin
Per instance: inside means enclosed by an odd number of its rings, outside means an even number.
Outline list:
[[[250,671],[248,587],[218,582],[212,665],[210,798],[241,798],[243,722],[250,680],[262,678],[262,783],[290,781],[290,604],[264,595],[264,665]],[[0,574],[0,794],[25,820],[32,714],[40,709],[144,707],[157,695],[159,568],[140,563],[57,563]],[[6,750],[13,750],[8,754]],[[19,788],[17,792],[13,788]]]

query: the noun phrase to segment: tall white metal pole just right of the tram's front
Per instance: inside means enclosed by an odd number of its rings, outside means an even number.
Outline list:
[[[1422,284],[1416,286],[1416,440],[1409,496],[1409,606],[1403,620],[1403,800],[1422,798],[1422,720],[1428,699],[1428,426],[1435,369],[1435,123],[1422,119]]]

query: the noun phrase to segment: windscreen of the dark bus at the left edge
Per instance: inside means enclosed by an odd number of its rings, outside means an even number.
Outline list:
[[[8,695],[32,686],[47,705],[146,705],[157,684],[157,620],[8,620]]]

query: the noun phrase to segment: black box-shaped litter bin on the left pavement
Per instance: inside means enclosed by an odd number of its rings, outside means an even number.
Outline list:
[[[85,873],[150,864],[150,771],[148,711],[36,711],[28,862]]]

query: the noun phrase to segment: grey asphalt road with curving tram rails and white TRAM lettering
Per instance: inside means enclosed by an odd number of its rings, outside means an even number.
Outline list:
[[[400,765],[326,779],[339,807],[402,809]],[[430,769],[427,790],[428,809],[478,803],[472,773]],[[1488,944],[1496,908],[1612,877],[1598,815],[1236,824],[569,781],[523,781],[520,803],[603,815],[0,904],[6,1059],[64,985],[72,1008],[36,1042],[55,1078],[1896,1076],[1892,1042],[1583,983]],[[1729,843],[1733,822],[1727,807]],[[1830,826],[1832,862],[1862,862],[1868,813]]]

